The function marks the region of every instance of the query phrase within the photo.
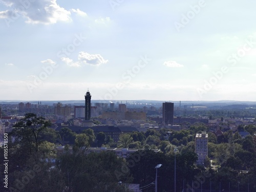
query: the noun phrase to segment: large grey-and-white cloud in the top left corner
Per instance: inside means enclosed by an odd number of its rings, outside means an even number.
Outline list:
[[[0,12],[0,18],[15,20],[19,16],[23,16],[27,18],[26,22],[31,24],[55,24],[58,21],[68,22],[72,20],[70,18],[70,11],[60,7],[56,0],[25,2],[2,0],[2,3],[10,9]]]

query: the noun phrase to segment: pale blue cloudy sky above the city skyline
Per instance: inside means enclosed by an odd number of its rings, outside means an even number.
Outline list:
[[[0,0],[0,100],[256,96],[253,0]]]

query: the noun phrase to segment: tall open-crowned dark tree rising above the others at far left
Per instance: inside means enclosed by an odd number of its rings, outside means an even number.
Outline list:
[[[27,113],[24,118],[14,125],[15,129],[11,135],[20,140],[20,142],[26,142],[32,154],[32,151],[38,151],[38,145],[42,142],[39,139],[40,134],[50,125],[50,121],[47,121],[44,117],[37,117],[36,114]]]

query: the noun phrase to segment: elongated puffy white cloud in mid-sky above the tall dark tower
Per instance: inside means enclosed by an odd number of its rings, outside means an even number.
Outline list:
[[[86,52],[79,52],[78,61],[74,62],[73,59],[68,57],[62,57],[61,60],[71,67],[80,67],[83,64],[89,64],[91,66],[99,66],[103,63],[108,62],[100,54],[89,54]]]

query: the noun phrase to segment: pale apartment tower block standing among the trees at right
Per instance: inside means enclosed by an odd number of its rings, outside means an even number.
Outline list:
[[[195,152],[198,155],[197,164],[203,164],[205,158],[208,156],[208,134],[206,132],[197,133]]]

